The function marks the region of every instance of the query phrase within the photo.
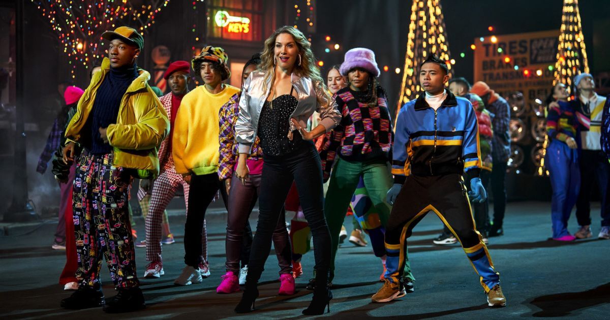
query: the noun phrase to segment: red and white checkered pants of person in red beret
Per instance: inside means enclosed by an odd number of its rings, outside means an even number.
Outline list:
[[[161,222],[163,212],[170,204],[171,199],[182,185],[184,190],[184,205],[188,211],[189,185],[182,176],[176,173],[174,162],[171,158],[165,163],[163,172],[152,183],[151,200],[146,215],[146,261],[161,261]],[[207,265],[207,230],[206,221],[203,222],[201,233],[201,246],[203,252],[203,263]]]

